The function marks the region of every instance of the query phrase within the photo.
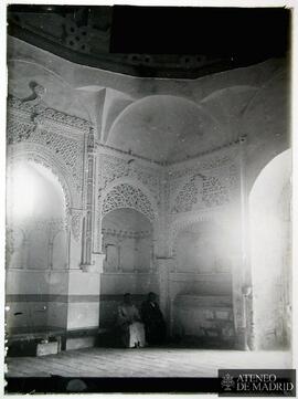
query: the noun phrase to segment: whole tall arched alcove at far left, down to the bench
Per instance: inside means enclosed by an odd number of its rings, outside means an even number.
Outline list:
[[[34,161],[8,168],[7,313],[8,330],[20,334],[66,325],[66,206],[53,172]],[[58,309],[58,311],[57,311]]]

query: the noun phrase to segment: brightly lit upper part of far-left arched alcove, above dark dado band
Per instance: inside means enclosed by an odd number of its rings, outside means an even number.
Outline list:
[[[67,264],[66,201],[56,176],[31,160],[15,160],[8,168],[7,266],[17,269],[55,269]],[[60,242],[54,240],[60,233]],[[20,241],[21,240],[21,241]],[[56,264],[53,264],[53,253]]]

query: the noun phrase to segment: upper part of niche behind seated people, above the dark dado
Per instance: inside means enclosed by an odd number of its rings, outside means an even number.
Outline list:
[[[152,266],[152,224],[141,212],[119,208],[102,222],[106,272],[149,271]]]

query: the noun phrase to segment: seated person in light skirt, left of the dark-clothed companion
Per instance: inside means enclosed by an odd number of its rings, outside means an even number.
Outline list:
[[[139,311],[131,303],[129,293],[124,295],[124,302],[118,306],[118,326],[121,340],[126,348],[138,348],[146,345],[143,324]]]

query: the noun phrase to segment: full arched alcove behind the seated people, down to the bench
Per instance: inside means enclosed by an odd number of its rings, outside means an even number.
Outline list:
[[[104,273],[100,277],[100,321],[115,328],[117,306],[129,292],[139,307],[146,295],[158,293],[153,259],[153,227],[141,212],[119,208],[103,218]]]

